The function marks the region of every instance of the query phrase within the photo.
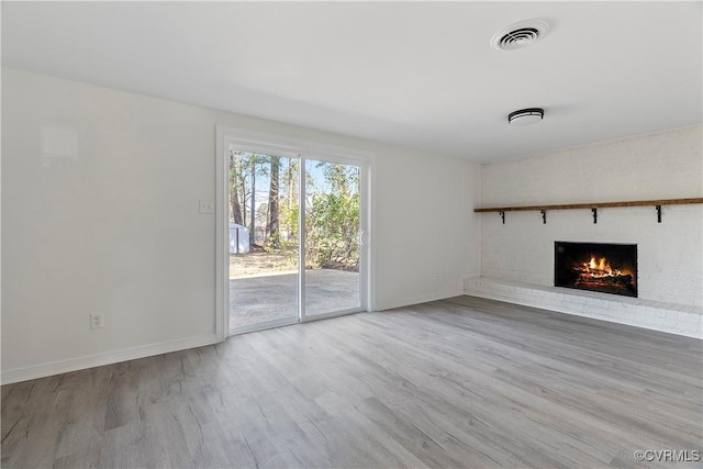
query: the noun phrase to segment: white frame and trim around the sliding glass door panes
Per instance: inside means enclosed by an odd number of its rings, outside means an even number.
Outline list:
[[[372,275],[373,275],[373,236],[371,226],[371,182],[375,155],[369,152],[328,145],[315,141],[299,139],[278,134],[252,131],[217,124],[215,126],[215,335],[217,340],[230,336],[230,208],[227,201],[230,176],[230,145],[238,149],[255,153],[270,152],[279,156],[295,155],[301,160],[301,175],[304,174],[304,161],[322,159],[332,163],[357,165],[360,168],[359,193],[362,201],[359,223],[362,246],[359,249],[359,295],[361,311],[370,311],[372,305]],[[304,177],[302,178],[304,180]],[[304,185],[299,187],[299,203],[304,201]],[[300,206],[303,206],[302,204]],[[302,212],[301,212],[302,213]],[[302,224],[302,216],[300,220]],[[301,228],[304,228],[301,226]],[[300,232],[303,239],[304,232]],[[304,243],[300,243],[301,258],[304,256]],[[304,263],[301,264],[304,269]],[[299,266],[300,267],[300,266]],[[304,273],[304,270],[303,270]],[[300,275],[300,273],[299,273]],[[305,316],[301,312],[304,306],[304,275],[300,275],[299,316],[301,322],[322,320],[346,314],[345,311],[332,312],[314,316]]]

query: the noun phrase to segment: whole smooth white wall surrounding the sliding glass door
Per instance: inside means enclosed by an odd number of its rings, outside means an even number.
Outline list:
[[[479,166],[2,71],[2,381],[214,340],[215,124],[376,154],[375,309],[479,273]],[[89,330],[89,314],[105,315]]]

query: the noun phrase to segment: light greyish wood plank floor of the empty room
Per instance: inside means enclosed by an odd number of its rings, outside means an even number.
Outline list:
[[[469,297],[356,314],[4,386],[2,467],[643,467],[703,449],[702,347]]]

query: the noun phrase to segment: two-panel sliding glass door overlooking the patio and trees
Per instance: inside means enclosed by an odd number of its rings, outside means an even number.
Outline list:
[[[364,178],[338,157],[228,148],[230,334],[364,309]]]

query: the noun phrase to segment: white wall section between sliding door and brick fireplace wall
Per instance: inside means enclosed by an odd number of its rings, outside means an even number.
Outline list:
[[[398,156],[376,165],[378,309],[462,294],[457,272],[480,269],[479,166],[422,153]]]

